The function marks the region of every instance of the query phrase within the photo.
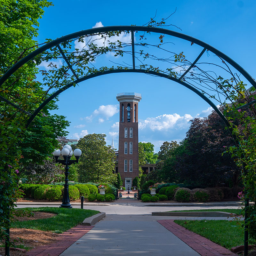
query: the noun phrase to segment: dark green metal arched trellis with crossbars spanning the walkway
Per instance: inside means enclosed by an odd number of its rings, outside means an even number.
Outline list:
[[[73,70],[72,66],[70,65],[65,53],[62,51],[62,49],[60,48],[61,43],[76,38],[76,37],[81,37],[81,36],[86,36],[86,35],[91,35],[91,34],[95,34],[95,33],[107,33],[110,31],[131,31],[131,44],[132,44],[132,66],[133,68],[130,69],[114,69],[114,70],[107,70],[107,71],[99,71],[96,72],[95,74],[91,74],[91,75],[87,75],[87,76],[83,76],[83,77],[78,77],[76,72]],[[172,76],[168,76],[167,74],[161,73],[161,72],[156,72],[156,71],[152,71],[152,70],[146,70],[146,69],[136,69],[135,68],[135,52],[134,52],[134,31],[142,31],[142,32],[152,32],[152,33],[160,33],[160,34],[164,34],[164,35],[169,35],[169,36],[174,36],[180,39],[184,39],[187,40],[189,42],[192,42],[193,44],[197,44],[201,47],[203,47],[203,50],[201,51],[201,53],[197,56],[197,58],[192,62],[192,64],[190,65],[190,67],[187,68],[187,70],[183,73],[182,76],[180,76],[179,78],[174,78]],[[72,71],[73,75],[76,77],[76,80],[72,81],[70,84],[65,85],[64,87],[62,87],[61,89],[59,89],[58,91],[54,92],[49,98],[47,98],[46,100],[44,100],[44,102],[36,109],[34,110],[33,113],[29,113],[27,111],[25,111],[24,109],[20,108],[19,106],[15,105],[14,103],[12,103],[11,101],[5,99],[4,97],[0,96],[0,99],[2,101],[5,101],[7,104],[11,105],[12,107],[22,111],[23,113],[29,115],[29,119],[28,119],[28,123],[27,123],[27,127],[28,125],[33,121],[33,119],[35,118],[35,116],[40,112],[40,110],[42,110],[42,108],[49,103],[53,98],[55,98],[57,95],[59,95],[61,92],[67,90],[68,88],[70,88],[71,86],[73,86],[74,83],[80,83],[82,81],[88,80],[90,78],[96,77],[96,76],[101,76],[101,75],[106,75],[106,74],[112,74],[112,73],[128,73],[128,72],[135,72],[135,73],[144,73],[144,74],[150,74],[150,75],[154,75],[154,76],[160,76],[160,77],[164,77],[167,79],[170,79],[174,82],[177,82],[185,87],[187,87],[188,89],[192,90],[193,92],[195,92],[197,95],[199,95],[203,100],[205,100],[221,117],[221,119],[224,121],[224,123],[228,126],[228,120],[225,118],[225,116],[220,112],[220,110],[215,106],[215,104],[209,100],[209,98],[207,98],[202,92],[200,92],[199,90],[197,90],[195,87],[191,86],[190,84],[186,83],[185,81],[182,81],[182,77],[184,77],[191,68],[193,68],[193,66],[198,62],[198,60],[202,57],[203,53],[206,50],[209,50],[213,53],[215,53],[217,56],[219,56],[220,58],[222,58],[223,60],[225,60],[226,62],[228,62],[231,66],[233,66],[238,72],[240,72],[246,79],[247,81],[249,81],[249,83],[256,89],[256,82],[255,80],[252,78],[252,76],[250,76],[240,65],[238,65],[234,60],[232,60],[231,58],[229,58],[226,54],[220,52],[219,50],[215,49],[214,47],[212,47],[209,44],[206,44],[194,37],[191,36],[187,36],[184,35],[182,33],[179,32],[175,32],[172,30],[168,30],[168,29],[163,29],[163,28],[155,28],[155,27],[142,27],[142,26],[110,26],[110,27],[102,27],[102,28],[92,28],[92,29],[88,29],[88,30],[83,30],[83,31],[79,31],[73,34],[69,34],[67,36],[63,36],[61,38],[58,38],[56,40],[53,40],[43,46],[41,46],[40,48],[36,49],[34,52],[31,52],[30,54],[28,54],[26,57],[24,57],[23,59],[21,59],[19,62],[17,62],[15,65],[13,65],[1,78],[0,78],[0,86],[10,77],[12,76],[12,74],[18,70],[20,67],[22,67],[25,63],[27,63],[30,60],[33,60],[34,57],[36,57],[38,54],[50,49],[51,47],[57,46],[60,54],[62,55],[63,59],[66,61],[68,67],[70,68],[70,70]],[[251,105],[253,103],[255,103],[256,100],[243,105],[242,107]],[[237,109],[240,109],[242,107],[239,107]],[[236,138],[234,138],[236,140]],[[248,235],[248,234],[247,234]],[[245,241],[248,240],[245,238]],[[248,243],[247,243],[248,245]],[[245,243],[245,250],[248,247],[246,247],[246,243]]]

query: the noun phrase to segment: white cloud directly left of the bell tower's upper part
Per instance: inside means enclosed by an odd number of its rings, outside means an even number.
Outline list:
[[[95,109],[93,112],[92,112],[92,115],[90,116],[86,116],[84,119],[88,122],[92,122],[92,119],[95,117],[95,116],[99,116],[99,123],[103,123],[105,120],[108,120],[109,117],[111,116],[114,116],[116,113],[119,112],[119,109],[118,109],[119,105],[116,104],[116,105],[101,105],[98,109]]]

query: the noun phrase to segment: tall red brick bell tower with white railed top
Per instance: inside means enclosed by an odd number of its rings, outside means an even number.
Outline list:
[[[139,176],[138,103],[141,94],[122,92],[116,95],[116,99],[120,102],[118,172],[127,189]]]

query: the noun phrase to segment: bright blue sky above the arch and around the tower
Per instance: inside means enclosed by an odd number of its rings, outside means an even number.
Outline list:
[[[53,0],[39,21],[39,36],[55,39],[76,31],[100,26],[143,25],[155,15],[160,20],[177,11],[169,29],[196,37],[238,62],[255,78],[255,1],[84,1]],[[135,35],[136,36],[136,35]],[[135,38],[136,40],[136,38]],[[175,41],[183,47],[184,42]],[[184,49],[187,46],[184,44]],[[189,48],[191,56],[198,49]],[[69,139],[88,133],[105,133],[107,144],[114,137],[118,147],[119,92],[138,92],[139,141],[151,142],[155,152],[164,141],[182,140],[189,120],[208,116],[209,105],[196,94],[167,79],[144,74],[112,74],[90,79],[60,94],[54,113],[71,121]],[[216,103],[217,105],[217,103]]]

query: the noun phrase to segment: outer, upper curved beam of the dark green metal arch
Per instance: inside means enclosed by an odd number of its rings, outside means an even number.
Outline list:
[[[218,55],[220,58],[223,60],[227,61],[230,65],[232,65],[234,68],[236,68],[237,71],[239,71],[251,84],[252,86],[256,89],[256,81],[252,78],[252,76],[247,73],[244,68],[242,68],[238,63],[236,63],[234,60],[229,58],[226,54],[223,52],[220,52],[216,48],[212,47],[209,44],[204,43],[201,40],[198,40],[192,36],[188,36],[179,32],[175,32],[172,30],[168,30],[165,28],[155,28],[155,27],[143,27],[143,26],[108,26],[108,27],[101,27],[101,28],[91,28],[87,30],[82,30],[78,31],[60,38],[57,38],[40,48],[36,49],[34,52],[31,52],[28,54],[26,57],[24,57],[22,60],[17,62],[15,65],[12,66],[1,78],[0,78],[0,86],[7,80],[9,76],[11,76],[18,68],[20,68],[23,64],[28,62],[29,60],[32,60],[36,55],[40,54],[41,52],[44,52],[45,50],[56,46],[57,44],[60,44],[64,41],[70,40],[72,38],[76,38],[79,36],[85,36],[85,35],[90,35],[94,33],[106,33],[109,31],[144,31],[144,32],[153,32],[153,33],[161,33],[161,34],[166,34],[169,36],[174,36],[178,37],[184,40],[187,40],[189,42],[193,42],[194,44],[198,44],[202,46],[203,48],[206,48],[210,50],[211,52],[215,53]],[[80,79],[79,79],[80,80]]]

